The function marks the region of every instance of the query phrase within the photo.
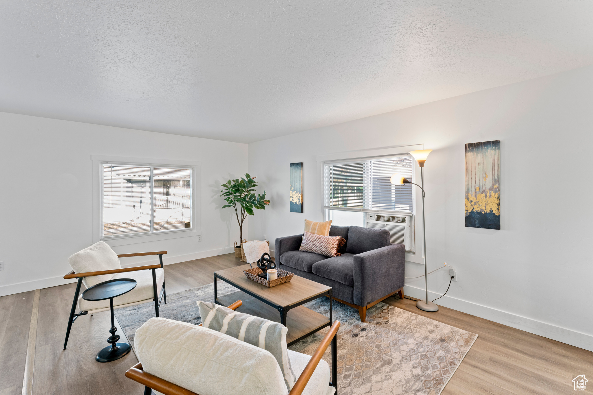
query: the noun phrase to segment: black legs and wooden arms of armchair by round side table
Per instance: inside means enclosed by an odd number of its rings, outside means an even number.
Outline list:
[[[161,268],[163,268],[162,255],[165,253],[167,253],[167,251],[160,251],[157,253],[141,252],[138,254],[120,254],[117,256],[118,256],[118,258],[125,258],[127,256],[158,255],[160,266],[161,266]],[[165,304],[167,304],[167,294],[165,292],[165,280],[163,278],[161,294],[158,295],[157,271],[156,271],[157,268],[158,268],[158,265],[148,265],[148,266],[136,266],[136,267],[132,267],[132,268],[116,269],[115,271],[106,271],[106,272],[131,272],[131,271],[139,271],[139,270],[151,270],[152,271],[152,289],[154,291],[154,297],[152,298],[152,300],[154,300],[155,317],[158,317],[158,309],[161,306],[161,301],[164,301]],[[97,272],[97,274],[94,274],[94,275],[101,275],[101,274],[103,274],[103,273]],[[104,274],[107,274],[107,273],[104,273]],[[75,314],[76,304],[78,304],[78,296],[80,294],[80,288],[82,285],[82,279],[85,277],[90,277],[90,276],[78,277],[78,276],[76,276],[74,270],[64,276],[64,278],[78,278],[78,282],[76,284],[76,291],[74,292],[74,300],[72,301],[72,309],[70,310],[70,317],[68,319],[68,329],[66,329],[66,339],[64,340],[64,349],[66,349],[66,345],[68,344],[68,338],[70,337],[70,330],[72,329],[72,324],[76,321],[76,319],[79,316],[85,316],[88,314],[88,311],[83,311],[83,310],[81,310],[80,313]],[[91,313],[91,316],[92,315],[93,314]]]

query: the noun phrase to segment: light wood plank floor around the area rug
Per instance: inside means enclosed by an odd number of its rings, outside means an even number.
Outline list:
[[[209,284],[213,271],[241,264],[227,254],[166,265],[167,294]],[[109,311],[79,317],[68,349],[62,349],[74,288],[68,284],[41,290],[33,394],[141,395],[143,387],[124,376],[138,362],[133,353],[106,364],[95,362],[97,351],[107,346]],[[21,393],[33,298],[34,291],[0,297],[0,395]],[[593,377],[593,352],[446,307],[427,313],[411,300],[391,297],[386,302],[479,335],[443,395],[568,394],[574,393],[571,380],[577,375]],[[117,333],[126,341],[122,330]]]

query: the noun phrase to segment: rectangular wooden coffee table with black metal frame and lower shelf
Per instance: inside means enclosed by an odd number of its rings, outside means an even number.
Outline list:
[[[333,322],[331,287],[294,275],[289,282],[267,288],[245,277],[243,271],[249,268],[249,265],[241,265],[214,272],[215,303],[229,306],[237,300],[242,300],[243,305],[237,311],[285,325],[288,328],[286,334],[288,346],[331,325]],[[217,296],[216,280],[228,282],[233,287],[239,288],[240,291]],[[302,306],[302,304],[326,295],[330,297],[329,317]]]

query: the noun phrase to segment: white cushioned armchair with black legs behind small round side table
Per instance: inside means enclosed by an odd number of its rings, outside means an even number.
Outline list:
[[[76,318],[85,314],[110,310],[109,299],[88,301],[84,300],[82,296],[79,296],[82,283],[84,283],[85,287],[90,288],[93,285],[108,280],[132,278],[136,280],[136,287],[122,296],[113,298],[113,309],[154,301],[155,316],[158,317],[158,308],[161,300],[164,300],[165,304],[167,303],[165,271],[162,268],[162,255],[165,253],[167,251],[123,253],[117,255],[107,243],[98,242],[70,256],[68,258],[68,264],[70,264],[73,270],[66,274],[64,278],[78,278],[78,284],[76,284],[70,318],[68,319],[64,349],[68,344],[70,329]],[[160,264],[132,268],[122,268],[120,265],[119,258],[145,255],[158,255]],[[78,305],[78,309],[80,310],[78,314],[75,314],[76,305]]]

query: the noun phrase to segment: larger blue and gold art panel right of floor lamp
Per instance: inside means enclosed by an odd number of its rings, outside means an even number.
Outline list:
[[[466,226],[500,229],[500,140],[466,144]]]

